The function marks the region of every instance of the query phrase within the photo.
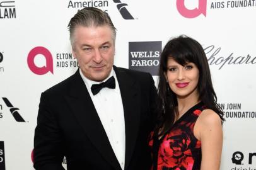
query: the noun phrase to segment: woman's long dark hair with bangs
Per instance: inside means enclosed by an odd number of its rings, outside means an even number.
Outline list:
[[[197,84],[199,100],[207,108],[215,111],[223,122],[223,111],[217,104],[217,96],[212,87],[211,72],[204,49],[196,40],[181,35],[177,38],[172,38],[166,43],[161,53],[158,84],[158,113],[160,115],[158,115],[158,125],[154,134],[159,137],[164,135],[170,130],[175,122],[175,118],[178,116],[177,96],[170,89],[165,76],[167,62],[170,57],[180,65],[186,65],[188,62],[192,62],[197,66],[199,69],[199,81]]]

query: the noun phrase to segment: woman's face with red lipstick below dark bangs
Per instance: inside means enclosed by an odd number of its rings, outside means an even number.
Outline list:
[[[199,69],[194,63],[189,62],[183,66],[169,57],[166,79],[177,97],[198,96]]]

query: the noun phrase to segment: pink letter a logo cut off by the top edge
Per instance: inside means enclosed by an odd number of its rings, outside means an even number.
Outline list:
[[[177,0],[178,12],[185,18],[195,18],[200,14],[203,14],[204,16],[206,16],[206,6],[207,6],[207,0],[199,0],[199,8],[187,9],[185,7],[185,0]]]

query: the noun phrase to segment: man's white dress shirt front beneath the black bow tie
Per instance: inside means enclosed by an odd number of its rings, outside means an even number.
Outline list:
[[[125,162],[125,123],[124,123],[124,107],[122,103],[119,83],[115,71],[110,72],[111,76],[115,77],[115,89],[102,88],[99,93],[93,95],[91,93],[91,85],[100,84],[100,82],[91,81],[86,78],[81,69],[79,73],[86,85],[86,88],[91,96],[91,100],[96,108],[100,121],[107,133],[108,140],[112,146],[113,152],[119,161],[120,166],[124,170]],[[105,79],[104,81],[107,81]]]

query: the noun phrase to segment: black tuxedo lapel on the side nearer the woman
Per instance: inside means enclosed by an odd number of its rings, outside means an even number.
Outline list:
[[[124,106],[125,119],[125,169],[129,165],[136,145],[137,133],[140,122],[140,94],[139,86],[136,80],[127,74],[127,72],[113,67],[119,82],[119,88]]]

